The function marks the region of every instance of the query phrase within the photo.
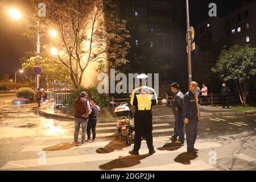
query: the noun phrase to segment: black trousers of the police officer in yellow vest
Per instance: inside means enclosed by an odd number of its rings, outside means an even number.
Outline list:
[[[141,148],[141,137],[144,135],[147,142],[148,150],[153,150],[153,138],[152,138],[152,112],[151,110],[136,111],[134,114],[134,150],[139,151]]]

